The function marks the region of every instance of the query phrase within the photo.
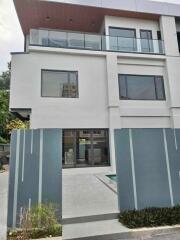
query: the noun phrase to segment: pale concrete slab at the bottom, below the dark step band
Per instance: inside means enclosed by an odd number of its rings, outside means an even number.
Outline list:
[[[117,240],[125,239],[130,230],[118,219],[63,225],[65,240]]]

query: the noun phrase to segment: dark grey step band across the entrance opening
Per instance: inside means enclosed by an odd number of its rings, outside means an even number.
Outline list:
[[[85,223],[85,222],[112,220],[112,219],[118,219],[118,214],[119,213],[117,212],[117,213],[107,213],[107,214],[100,214],[100,215],[64,218],[62,220],[62,223],[63,223],[63,225],[65,225],[65,224],[75,224],[75,223]]]

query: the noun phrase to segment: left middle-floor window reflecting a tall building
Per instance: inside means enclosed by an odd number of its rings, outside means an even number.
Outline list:
[[[77,98],[78,73],[42,70],[42,97]]]

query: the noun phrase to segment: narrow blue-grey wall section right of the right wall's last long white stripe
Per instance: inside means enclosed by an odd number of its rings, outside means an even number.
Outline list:
[[[180,129],[166,129],[174,204],[180,204]]]

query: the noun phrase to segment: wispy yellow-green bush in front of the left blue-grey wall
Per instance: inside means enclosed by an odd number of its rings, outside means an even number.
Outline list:
[[[20,229],[9,231],[8,239],[27,240],[62,235],[61,225],[58,224],[56,209],[52,204],[41,204],[30,210],[24,209],[20,216]]]

